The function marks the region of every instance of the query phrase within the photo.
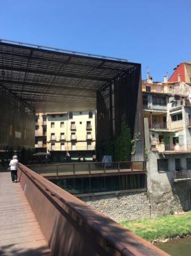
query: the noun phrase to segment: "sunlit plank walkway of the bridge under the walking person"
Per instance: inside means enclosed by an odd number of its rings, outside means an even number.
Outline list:
[[[0,256],[50,256],[20,183],[0,172]]]

